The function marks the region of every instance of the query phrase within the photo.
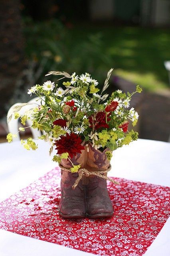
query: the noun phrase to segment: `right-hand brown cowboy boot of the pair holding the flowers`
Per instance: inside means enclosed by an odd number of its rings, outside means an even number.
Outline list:
[[[107,170],[110,165],[110,161],[105,154],[107,150],[101,152],[100,150],[95,150],[89,144],[85,168],[89,171]],[[107,176],[107,174],[103,175]],[[106,180],[95,175],[90,175],[87,179],[85,188],[87,217],[103,218],[112,216],[113,205],[109,198]]]

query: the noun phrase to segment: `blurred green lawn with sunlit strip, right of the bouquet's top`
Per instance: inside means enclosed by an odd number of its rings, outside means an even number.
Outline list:
[[[103,50],[112,59],[115,74],[150,91],[169,88],[164,60],[170,60],[170,30],[158,28],[75,26],[74,40],[101,33]]]

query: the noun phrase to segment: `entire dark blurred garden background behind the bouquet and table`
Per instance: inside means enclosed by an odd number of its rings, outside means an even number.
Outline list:
[[[102,86],[113,67],[111,90],[144,88],[140,136],[168,140],[169,0],[1,0],[0,24],[0,124],[31,86],[56,80],[48,71],[89,72]]]

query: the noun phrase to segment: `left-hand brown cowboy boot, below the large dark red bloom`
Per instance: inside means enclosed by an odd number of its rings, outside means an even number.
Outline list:
[[[71,158],[71,162],[74,165],[81,164],[81,168],[83,168],[85,162],[85,150],[82,150],[81,154],[77,154]],[[61,165],[65,168],[70,168],[72,167],[71,162],[62,159]],[[78,173],[64,171],[61,168],[61,199],[59,202],[59,215],[63,218],[83,218],[86,216],[85,186],[82,184],[82,180],[75,189],[72,188],[78,175]]]

